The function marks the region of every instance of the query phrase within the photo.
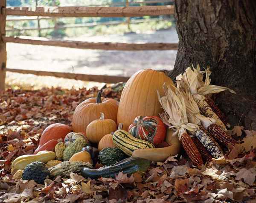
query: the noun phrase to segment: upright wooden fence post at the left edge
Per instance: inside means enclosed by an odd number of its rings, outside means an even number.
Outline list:
[[[0,0],[0,90],[5,90],[6,78],[6,43],[3,37],[6,34],[6,0]]]

